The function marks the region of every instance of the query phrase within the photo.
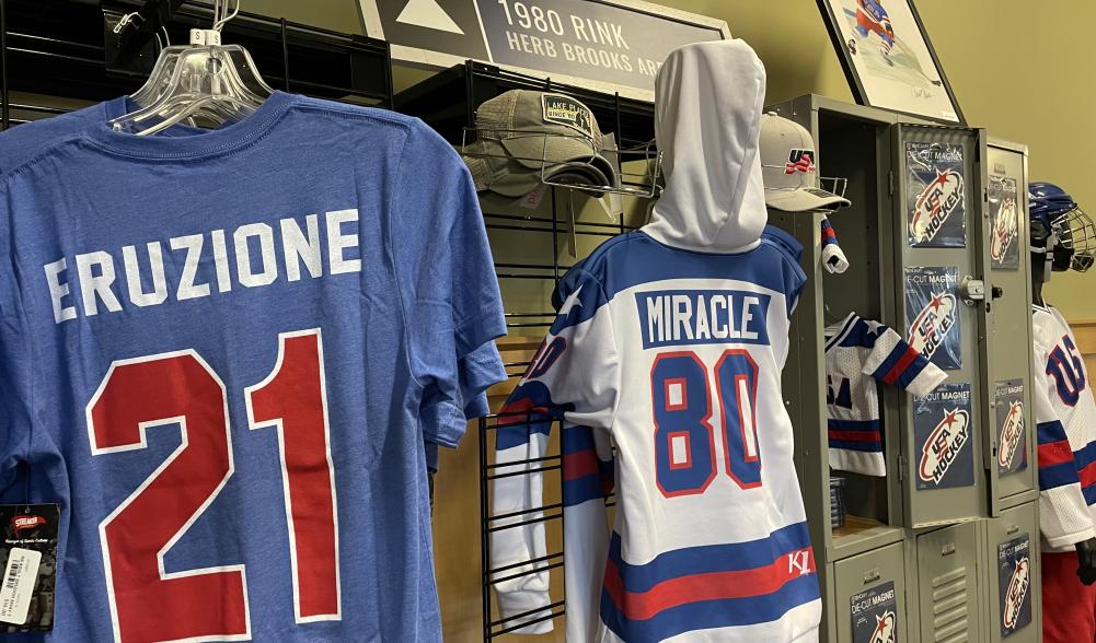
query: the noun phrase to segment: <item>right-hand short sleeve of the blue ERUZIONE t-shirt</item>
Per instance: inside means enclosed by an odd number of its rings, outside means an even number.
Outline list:
[[[420,426],[424,440],[454,447],[465,409],[505,377],[492,342],[505,322],[487,230],[468,169],[421,122],[409,127],[393,184],[387,246],[422,387]]]

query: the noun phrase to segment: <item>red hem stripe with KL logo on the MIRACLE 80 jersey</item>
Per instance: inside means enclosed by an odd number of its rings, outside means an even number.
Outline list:
[[[804,554],[807,564],[803,569],[792,564]],[[766,596],[784,587],[785,584],[813,572],[814,553],[808,547],[781,555],[764,567],[693,574],[663,581],[647,592],[628,592],[624,588],[619,569],[609,560],[605,569],[605,590],[626,618],[643,620],[690,602]]]

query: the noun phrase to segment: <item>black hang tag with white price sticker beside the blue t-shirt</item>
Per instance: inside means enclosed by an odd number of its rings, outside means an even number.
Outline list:
[[[0,505],[0,632],[48,632],[54,627],[60,508]]]

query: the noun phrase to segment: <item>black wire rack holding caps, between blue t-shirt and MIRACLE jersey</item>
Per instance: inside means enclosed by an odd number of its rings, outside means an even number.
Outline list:
[[[545,137],[545,133],[529,130],[500,133],[498,128],[490,128],[489,136],[495,139],[509,136],[540,137],[540,153],[530,154],[535,158],[517,159],[509,154],[501,158],[506,152],[498,149],[483,150],[476,142],[486,138],[482,136],[484,133],[476,128],[476,110],[484,101],[514,89],[563,93],[576,99],[593,112],[601,131],[615,135],[618,150],[606,150],[589,137],[576,137],[590,149],[590,158],[561,162],[562,159],[549,151],[550,141]],[[598,242],[635,230],[642,222],[638,220],[641,218],[638,213],[632,213],[630,217],[620,216],[612,222],[607,219],[574,217],[572,208],[575,195],[580,202],[583,193],[593,197],[623,195],[636,197],[641,202],[658,195],[661,184],[661,156],[653,142],[653,105],[624,99],[619,94],[566,85],[551,79],[512,72],[483,62],[467,61],[398,94],[396,110],[421,117],[449,142],[464,150],[466,157],[494,163],[522,164],[521,161],[525,161],[522,167],[532,175],[532,181],[552,187],[544,193],[545,203],[535,210],[522,208],[520,205],[522,199],[515,200],[499,195],[482,196],[480,199],[484,226],[495,257],[495,274],[503,286],[506,328],[511,340],[523,344],[521,349],[503,347],[503,360],[509,380],[489,393],[491,399],[498,402],[498,398],[512,388],[524,374],[529,364],[526,356],[533,353],[536,343],[556,318],[556,311],[549,310],[547,305],[538,308],[543,302],[536,297],[529,301],[526,297],[507,297],[506,292],[543,291],[558,283],[578,261],[575,256],[561,251],[561,245],[568,238],[579,238],[586,243]],[[536,149],[535,146],[529,147]],[[574,147],[578,149],[578,146]],[[616,184],[573,185],[553,180],[561,170],[573,170],[573,164],[589,163],[596,153],[606,158],[613,164],[614,171],[619,170]],[[515,248],[534,249],[536,252],[517,253],[514,251]],[[528,284],[528,287],[525,284]],[[552,584],[549,605],[524,615],[506,618],[499,615],[494,606],[492,598],[494,582],[561,569],[566,558],[566,543],[562,547],[555,547],[556,542],[562,542],[560,536],[563,527],[563,503],[552,497],[553,491],[546,494],[546,501],[541,506],[505,515],[491,515],[493,481],[514,475],[546,474],[545,487],[550,490],[562,480],[563,469],[563,459],[555,439],[549,441],[549,450],[543,457],[495,464],[493,451],[496,430],[502,425],[507,427],[527,425],[530,418],[525,412],[499,413],[495,404],[492,404],[492,411],[479,418],[477,427],[483,641],[505,640],[516,630],[537,622],[559,620],[566,615],[566,596],[558,592],[558,587],[562,584],[556,583]],[[559,433],[558,429],[552,432],[556,436]],[[605,503],[607,508],[613,507],[615,497],[612,494],[607,495]],[[545,525],[550,536],[547,541],[549,549],[545,554],[492,567],[491,536],[504,529],[535,524]],[[533,618],[524,621],[528,617]]]

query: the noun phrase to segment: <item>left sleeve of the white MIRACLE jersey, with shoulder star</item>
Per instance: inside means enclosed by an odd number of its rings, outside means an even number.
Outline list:
[[[545,543],[543,473],[548,433],[555,421],[569,425],[607,429],[616,409],[619,391],[619,360],[613,338],[613,320],[601,283],[585,271],[572,269],[560,285],[562,306],[548,336],[529,363],[525,376],[511,393],[500,412],[495,434],[495,473],[491,537],[492,569],[496,573],[494,587],[504,618],[515,618],[514,624],[530,623],[522,633],[551,630],[547,607],[548,572],[537,572],[548,562]],[[596,457],[585,440],[563,436],[563,475],[571,476],[569,495],[596,495],[586,486],[593,483],[591,468]],[[580,475],[581,473],[581,475]],[[583,479],[583,480],[579,480]],[[570,495],[572,500],[579,496]]]

